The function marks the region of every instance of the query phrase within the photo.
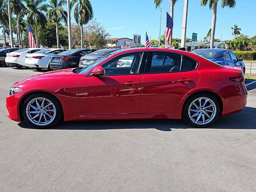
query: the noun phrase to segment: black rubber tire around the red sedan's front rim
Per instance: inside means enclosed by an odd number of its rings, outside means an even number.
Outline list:
[[[29,104],[29,102],[35,98],[46,98],[48,100],[50,100],[50,102],[52,102],[56,108],[56,116],[54,118],[54,120],[52,120],[52,122],[50,122],[47,125],[37,125],[34,124],[33,122],[31,122],[26,114],[26,107]],[[22,115],[24,117],[24,120],[31,126],[36,127],[36,128],[49,128],[52,127],[54,125],[56,125],[60,119],[62,118],[62,106],[60,104],[60,102],[53,96],[49,95],[49,94],[44,94],[44,93],[36,93],[33,94],[31,96],[29,96],[28,98],[26,98],[23,106],[22,106]]]

